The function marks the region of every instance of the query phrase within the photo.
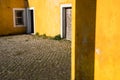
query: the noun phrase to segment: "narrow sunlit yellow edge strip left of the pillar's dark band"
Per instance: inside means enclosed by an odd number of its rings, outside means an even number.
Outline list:
[[[72,47],[71,47],[71,80],[75,80],[75,37],[76,37],[76,0],[72,0]],[[77,80],[77,79],[76,79]]]

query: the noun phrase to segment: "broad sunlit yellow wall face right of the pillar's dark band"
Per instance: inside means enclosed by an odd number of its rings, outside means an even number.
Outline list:
[[[120,1],[98,0],[95,80],[120,80]]]

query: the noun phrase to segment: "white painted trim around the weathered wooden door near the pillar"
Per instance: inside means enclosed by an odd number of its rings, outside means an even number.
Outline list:
[[[61,38],[63,38],[63,13],[64,13],[64,8],[67,8],[67,7],[72,7],[72,4],[61,4],[60,5],[60,34],[61,34]]]

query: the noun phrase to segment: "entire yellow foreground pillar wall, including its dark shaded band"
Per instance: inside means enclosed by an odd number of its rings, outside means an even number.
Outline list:
[[[73,0],[71,80],[120,80],[119,3]]]

